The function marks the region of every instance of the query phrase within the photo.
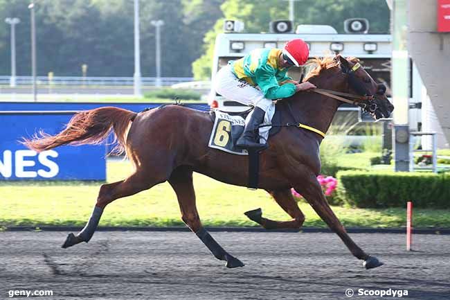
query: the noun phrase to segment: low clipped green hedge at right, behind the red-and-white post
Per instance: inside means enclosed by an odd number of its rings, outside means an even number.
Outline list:
[[[450,175],[340,171],[337,197],[357,207],[406,207],[450,209]]]

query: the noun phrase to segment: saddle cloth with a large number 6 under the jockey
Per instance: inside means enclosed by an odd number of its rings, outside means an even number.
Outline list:
[[[267,139],[269,139],[269,130],[272,128],[271,122],[275,110],[274,103],[267,109],[262,124],[264,127],[260,127],[259,129],[260,143],[267,143]],[[249,118],[248,114],[246,118]],[[213,131],[211,132],[208,146],[235,155],[249,155],[247,150],[235,147],[237,139],[244,132],[245,123],[246,120],[244,120],[242,115],[231,115],[226,112],[215,111]]]

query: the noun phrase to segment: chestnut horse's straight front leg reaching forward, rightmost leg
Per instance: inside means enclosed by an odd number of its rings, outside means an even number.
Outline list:
[[[295,180],[294,188],[298,191],[305,200],[312,206],[314,211],[327,223],[327,225],[343,240],[345,245],[350,249],[350,252],[357,258],[363,260],[363,266],[366,269],[379,267],[383,265],[375,256],[370,256],[363,252],[361,248],[348,236],[347,231],[336,217],[330,205],[328,204],[321,185],[316,179],[314,173],[304,173],[303,176],[298,177]]]

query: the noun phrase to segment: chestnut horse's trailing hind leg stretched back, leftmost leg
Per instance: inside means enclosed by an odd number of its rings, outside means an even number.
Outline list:
[[[94,206],[91,218],[89,218],[86,226],[84,226],[84,228],[76,236],[73,233],[69,233],[69,236],[67,236],[62,248],[71,247],[80,242],[89,242],[93,236],[93,233],[97,229],[103,209],[105,209],[107,204],[118,198],[127,197],[144,191],[151,188],[155,184],[159,184],[164,181],[165,178],[162,177],[150,177],[148,174],[136,172],[120,182],[103,184],[98,193],[96,206]]]

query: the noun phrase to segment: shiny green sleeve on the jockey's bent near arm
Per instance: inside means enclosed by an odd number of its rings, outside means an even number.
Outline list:
[[[275,70],[267,65],[255,70],[255,83],[267,99],[287,98],[296,93],[296,86],[293,83],[278,85]]]

